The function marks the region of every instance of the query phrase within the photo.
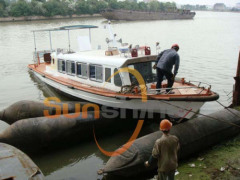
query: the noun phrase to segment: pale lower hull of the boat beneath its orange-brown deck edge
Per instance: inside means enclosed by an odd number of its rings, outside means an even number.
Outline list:
[[[195,115],[202,105],[203,101],[164,101],[164,100],[147,100],[142,102],[141,99],[120,99],[118,97],[107,97],[79,89],[71,88],[69,86],[57,83],[51,79],[48,79],[41,74],[31,71],[41,81],[47,85],[57,89],[60,92],[68,94],[72,97],[86,100],[91,103],[99,104],[105,107],[113,107],[120,109],[141,110],[143,112],[160,113],[165,118],[165,115],[169,115],[174,118],[186,118],[190,119]]]

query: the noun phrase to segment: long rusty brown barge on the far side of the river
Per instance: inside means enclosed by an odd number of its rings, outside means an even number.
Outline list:
[[[106,9],[101,12],[102,16],[108,20],[174,20],[174,19],[193,19],[195,12],[190,10],[177,10],[171,12],[158,11],[132,11],[132,10],[113,10]]]

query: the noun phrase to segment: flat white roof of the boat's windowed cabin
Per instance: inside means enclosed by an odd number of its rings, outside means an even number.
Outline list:
[[[138,63],[141,61],[155,60],[156,55],[152,56],[140,56],[140,57],[125,57],[124,55],[106,56],[105,50],[91,50],[81,51],[72,54],[58,54],[58,59],[71,60],[75,62],[100,64],[109,67],[124,67],[128,64]],[[147,59],[146,59],[147,57]],[[142,60],[143,59],[143,60]]]

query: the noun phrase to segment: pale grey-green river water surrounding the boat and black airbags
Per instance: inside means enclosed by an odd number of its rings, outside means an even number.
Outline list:
[[[106,21],[102,18],[52,20],[34,22],[0,23],[0,109],[13,102],[44,100],[48,96],[61,97],[44,84],[31,78],[27,65],[32,63],[34,51],[31,30],[59,26],[91,24],[93,48],[106,47]],[[231,103],[233,76],[236,74],[240,50],[240,13],[197,12],[194,20],[113,22],[114,32],[123,42],[133,45],[149,45],[155,53],[155,43],[161,49],[180,45],[179,77],[207,82],[220,94],[225,106]],[[88,35],[87,30],[71,31],[71,48],[77,49],[78,35]],[[48,33],[36,34],[37,50],[50,48]],[[53,48],[68,48],[67,32],[52,34]],[[209,114],[223,108],[217,102],[206,103],[200,110]],[[117,148],[128,140],[128,133],[105,138],[101,144],[106,149]],[[64,142],[63,142],[64,143]],[[71,148],[32,156],[46,175],[46,179],[97,179],[96,171],[103,167],[108,157],[101,154],[94,142],[85,142]]]

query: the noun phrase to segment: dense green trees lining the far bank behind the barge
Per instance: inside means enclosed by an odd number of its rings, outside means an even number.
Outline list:
[[[0,0],[0,17],[8,16],[71,16],[95,14],[104,9],[127,9],[141,11],[174,11],[174,2],[151,1],[149,3],[117,0]]]

